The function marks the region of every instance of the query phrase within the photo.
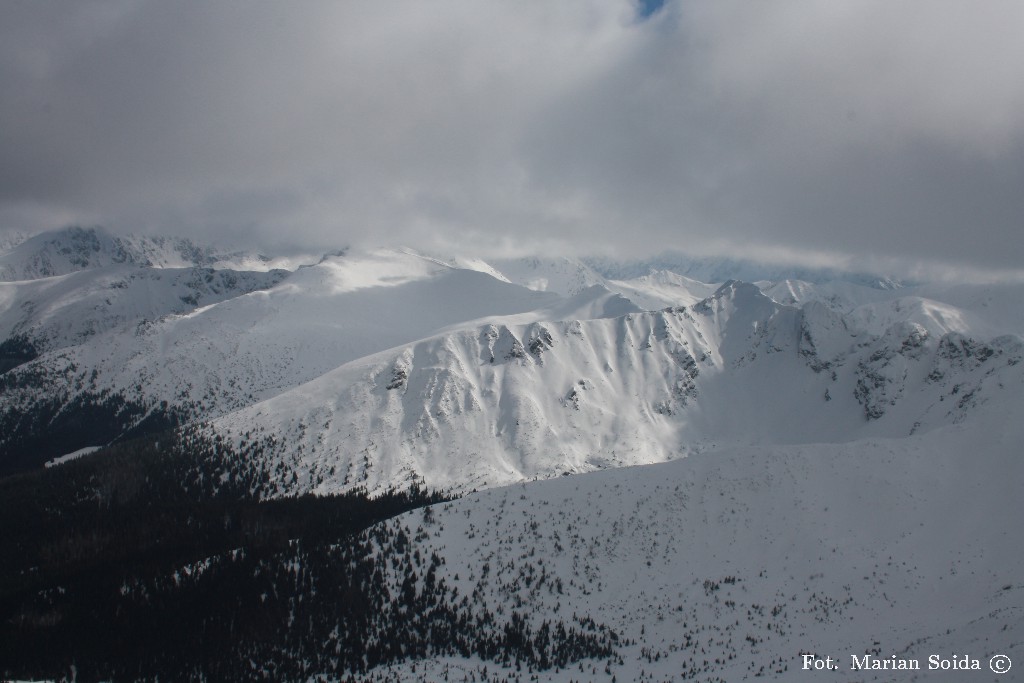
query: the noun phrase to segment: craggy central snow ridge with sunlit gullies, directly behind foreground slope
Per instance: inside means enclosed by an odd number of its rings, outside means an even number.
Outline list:
[[[690,307],[496,316],[345,364],[211,429],[243,453],[272,439],[260,457],[283,466],[283,490],[466,490],[713,444],[904,436],[1017,400],[1020,337],[977,341],[907,312],[871,331],[731,282]]]

